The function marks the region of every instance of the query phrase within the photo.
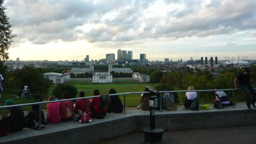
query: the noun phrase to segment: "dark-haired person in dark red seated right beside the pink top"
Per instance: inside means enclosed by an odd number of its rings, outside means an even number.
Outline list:
[[[63,92],[61,99],[69,99],[68,92]],[[74,114],[74,106],[71,100],[60,102],[60,118],[62,122],[72,121]]]

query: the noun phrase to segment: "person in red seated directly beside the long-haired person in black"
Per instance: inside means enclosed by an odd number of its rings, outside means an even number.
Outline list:
[[[99,96],[99,90],[93,91],[94,96]],[[100,97],[92,98],[91,106],[92,106],[92,117],[96,119],[104,119],[104,116],[107,115],[107,109],[100,109],[99,107]]]

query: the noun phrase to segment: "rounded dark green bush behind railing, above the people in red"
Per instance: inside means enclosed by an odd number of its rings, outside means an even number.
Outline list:
[[[70,95],[70,98],[76,98],[78,91],[77,88],[73,85],[67,84],[67,83],[60,83],[53,89],[53,96],[56,98],[61,98],[61,95],[63,92],[68,92]]]

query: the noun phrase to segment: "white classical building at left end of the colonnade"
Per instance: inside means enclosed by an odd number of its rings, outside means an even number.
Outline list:
[[[64,79],[70,79],[69,73],[44,73],[43,76],[52,83],[64,83]]]

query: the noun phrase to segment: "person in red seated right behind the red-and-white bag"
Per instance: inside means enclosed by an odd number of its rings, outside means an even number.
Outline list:
[[[80,98],[83,98],[84,96],[85,96],[84,92],[79,92],[79,97]],[[92,116],[91,102],[90,102],[90,100],[88,100],[88,98],[79,99],[79,100],[76,101],[75,113],[77,113],[78,110],[82,111],[82,113],[83,113],[83,112],[87,111],[87,108],[89,108],[89,110],[88,110],[89,113],[88,114],[90,116]]]

